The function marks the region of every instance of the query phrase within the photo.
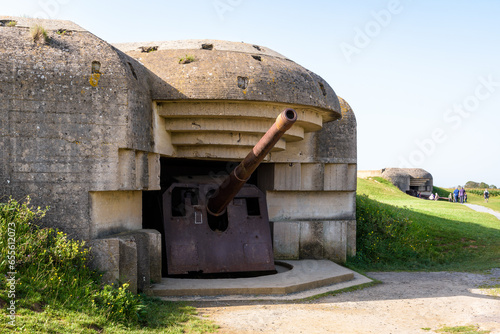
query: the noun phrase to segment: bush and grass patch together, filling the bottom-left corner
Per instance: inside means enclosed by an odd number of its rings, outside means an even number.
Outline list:
[[[101,275],[88,268],[84,242],[35,225],[46,211],[31,208],[29,198],[0,204],[0,330],[23,326],[30,333],[214,330],[194,317],[194,308],[134,295],[127,284],[101,284]],[[11,317],[7,306],[12,304],[15,316]]]

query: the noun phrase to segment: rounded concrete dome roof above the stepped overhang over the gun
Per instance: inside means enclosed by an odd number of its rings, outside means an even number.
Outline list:
[[[153,88],[155,100],[278,102],[313,107],[323,121],[341,116],[337,96],[326,81],[267,47],[218,40],[115,47],[161,79]]]

